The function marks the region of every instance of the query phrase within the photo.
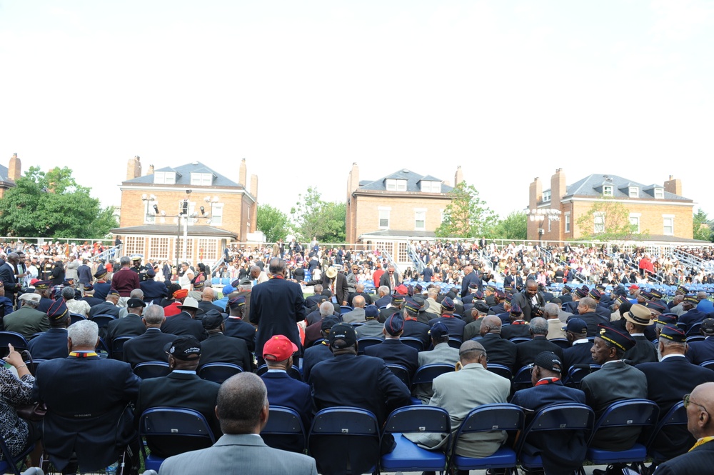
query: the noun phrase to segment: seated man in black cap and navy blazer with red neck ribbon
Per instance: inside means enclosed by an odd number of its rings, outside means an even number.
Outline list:
[[[583,391],[563,386],[562,376],[559,356],[550,351],[538,353],[533,359],[533,387],[516,391],[511,404],[533,413],[554,404],[585,404]],[[523,450],[529,455],[540,454],[548,475],[570,475],[583,464],[588,441],[584,431],[545,431],[529,437]]]

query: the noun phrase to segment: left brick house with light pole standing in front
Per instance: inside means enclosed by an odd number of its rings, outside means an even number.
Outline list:
[[[213,264],[230,241],[255,232],[258,177],[246,182],[246,160],[238,182],[194,161],[141,174],[138,156],[129,160],[121,183],[121,218],[112,234],[124,241],[122,254],[144,254],[151,261],[186,260]],[[186,244],[183,243],[186,224]]]

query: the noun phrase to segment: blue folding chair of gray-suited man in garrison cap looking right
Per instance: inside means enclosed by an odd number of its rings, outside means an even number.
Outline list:
[[[659,406],[648,399],[625,399],[610,404],[595,423],[593,434],[590,435],[588,460],[596,465],[643,463],[647,459],[647,447],[644,444],[635,442],[631,447],[613,451],[593,447],[593,439],[598,431],[603,429],[654,426],[657,424],[659,411]]]

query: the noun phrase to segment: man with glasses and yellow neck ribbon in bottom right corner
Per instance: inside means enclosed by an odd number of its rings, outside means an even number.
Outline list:
[[[687,428],[697,443],[687,453],[661,464],[655,475],[708,474],[714,465],[714,383],[700,384],[685,396]]]

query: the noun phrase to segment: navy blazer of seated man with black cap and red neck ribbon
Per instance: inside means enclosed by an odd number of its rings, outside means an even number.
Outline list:
[[[537,413],[554,404],[585,404],[585,393],[558,380],[516,391],[511,403]],[[528,437],[523,449],[528,454],[540,454],[549,475],[570,475],[583,464],[588,441],[584,431],[538,432]]]

